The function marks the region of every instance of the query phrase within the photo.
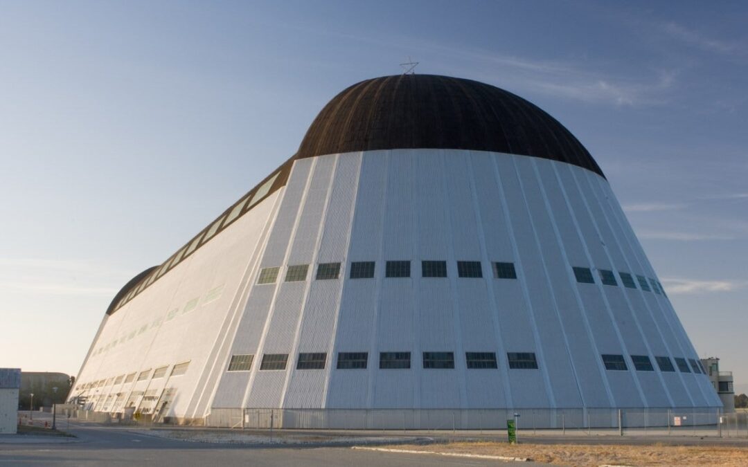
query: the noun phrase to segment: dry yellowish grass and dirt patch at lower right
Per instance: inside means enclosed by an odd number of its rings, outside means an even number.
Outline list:
[[[386,448],[490,456],[526,457],[558,466],[748,466],[748,447],[654,445],[509,445],[498,442],[450,442],[389,445]]]

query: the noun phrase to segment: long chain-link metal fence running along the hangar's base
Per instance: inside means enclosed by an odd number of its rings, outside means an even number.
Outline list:
[[[721,436],[748,439],[748,412],[717,409],[212,409],[199,420],[164,417],[160,423],[259,430],[506,430],[517,415],[518,430],[537,435]],[[129,419],[57,406],[57,415],[77,421],[150,425]]]

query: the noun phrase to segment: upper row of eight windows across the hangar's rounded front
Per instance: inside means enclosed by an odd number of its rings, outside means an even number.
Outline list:
[[[517,279],[514,263],[509,262],[492,262],[494,278],[496,279]],[[375,262],[360,261],[352,262],[350,268],[350,279],[373,279]],[[309,265],[293,265],[286,268],[286,282],[303,281],[307,279]],[[260,276],[257,278],[258,284],[275,284],[278,275],[281,273],[281,267],[263,267],[260,270]],[[483,276],[483,268],[479,261],[459,261],[457,262],[457,275],[459,277],[480,278]],[[387,261],[384,265],[385,277],[410,277],[410,261]],[[421,277],[447,277],[446,261],[422,261]],[[340,263],[319,263],[315,279],[339,279]]]

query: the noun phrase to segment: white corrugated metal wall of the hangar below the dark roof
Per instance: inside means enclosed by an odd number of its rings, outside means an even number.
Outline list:
[[[411,261],[411,277],[385,278],[387,260]],[[421,277],[423,260],[446,261],[447,277]],[[348,278],[359,261],[376,263],[373,279]],[[481,262],[483,277],[458,277],[458,261]],[[328,262],[341,263],[340,278],[316,280]],[[513,262],[517,279],[494,279],[492,262]],[[284,280],[292,265],[309,265],[306,280]],[[572,266],[591,267],[595,284],[577,283]],[[262,267],[281,267],[278,280],[257,284]],[[602,285],[599,269],[619,284]],[[209,407],[719,406],[704,375],[659,371],[654,356],[696,352],[667,297],[625,288],[617,271],[657,278],[610,185],[589,170],[456,149],[304,158],[285,188],[109,317],[94,347],[149,332],[91,356],[79,381],[189,359],[176,383],[99,389],[176,385],[170,413],[188,418]],[[379,369],[384,351],[410,352],[411,368]],[[455,368],[423,369],[424,351],[453,352]],[[296,370],[300,352],[326,353],[325,368]],[[368,352],[368,368],[336,369],[338,352]],[[498,368],[468,369],[465,352],[496,353]],[[533,352],[539,368],[509,369],[507,352]],[[263,353],[289,354],[286,369],[260,371]],[[624,355],[628,371],[605,370],[602,353]],[[233,354],[254,355],[251,370],[226,371]],[[635,371],[631,354],[655,371]]]

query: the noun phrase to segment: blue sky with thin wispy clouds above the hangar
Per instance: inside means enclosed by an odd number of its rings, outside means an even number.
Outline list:
[[[75,374],[111,297],[357,81],[529,99],[592,152],[696,349],[748,391],[744,2],[0,0],[0,366]]]

